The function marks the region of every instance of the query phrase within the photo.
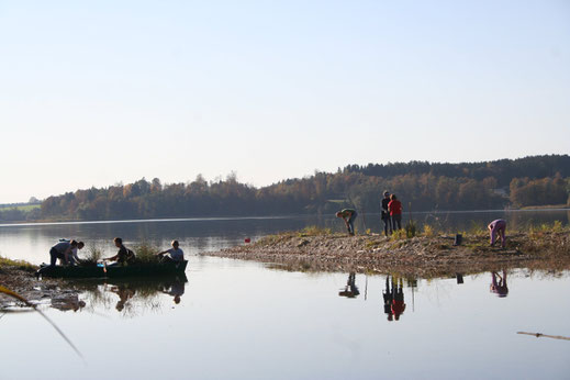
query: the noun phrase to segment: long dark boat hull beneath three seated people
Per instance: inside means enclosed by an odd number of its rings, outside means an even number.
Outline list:
[[[157,264],[133,264],[133,265],[112,265],[112,266],[75,266],[53,268],[42,268],[42,276],[60,278],[118,278],[118,277],[155,277],[165,275],[183,273],[188,260],[180,262],[165,261]]]

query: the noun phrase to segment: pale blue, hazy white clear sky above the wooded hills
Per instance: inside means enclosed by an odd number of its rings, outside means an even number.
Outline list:
[[[567,0],[0,0],[0,203],[569,153]]]

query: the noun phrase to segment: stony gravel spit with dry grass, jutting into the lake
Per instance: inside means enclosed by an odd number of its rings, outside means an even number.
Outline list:
[[[201,255],[293,271],[394,272],[421,278],[514,268],[561,271],[570,269],[570,234],[568,230],[513,233],[502,249],[490,247],[489,235],[483,233],[463,235],[462,244],[454,246],[454,237],[445,235],[385,238],[289,232]]]

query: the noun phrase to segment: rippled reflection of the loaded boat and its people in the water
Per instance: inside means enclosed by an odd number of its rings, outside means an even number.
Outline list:
[[[85,291],[86,309],[92,312],[97,308],[116,310],[123,316],[137,316],[163,306],[161,295],[172,295],[175,303],[180,303],[188,279],[185,275],[160,279],[108,279],[85,281],[77,286]]]

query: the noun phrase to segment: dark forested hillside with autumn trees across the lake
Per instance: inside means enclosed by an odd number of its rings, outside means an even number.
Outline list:
[[[115,220],[286,215],[332,213],[347,205],[379,212],[384,189],[414,211],[568,204],[569,177],[570,157],[551,155],[476,164],[350,165],[335,174],[315,172],[262,188],[241,183],[235,175],[217,181],[198,176],[191,182],[168,185],[143,178],[124,186],[49,197],[33,216]]]

